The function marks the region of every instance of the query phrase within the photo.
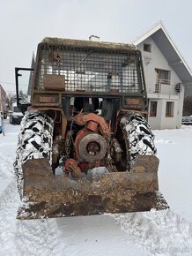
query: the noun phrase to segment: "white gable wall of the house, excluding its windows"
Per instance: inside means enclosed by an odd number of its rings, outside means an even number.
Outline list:
[[[151,52],[144,51],[144,43],[151,44]],[[144,62],[144,75],[149,99],[158,102],[156,117],[149,116],[151,129],[175,129],[181,128],[181,117],[183,107],[184,87],[181,86],[181,92],[175,91],[175,86],[181,79],[177,76],[174,69],[166,61],[166,57],[161,53],[151,37],[137,45],[141,50]],[[155,85],[157,83],[156,69],[171,72],[170,85],[161,84],[159,93],[155,93]],[[166,102],[174,102],[173,117],[166,117]]]

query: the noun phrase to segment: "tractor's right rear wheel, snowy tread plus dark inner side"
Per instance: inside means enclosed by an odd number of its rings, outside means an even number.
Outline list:
[[[127,113],[121,118],[115,138],[122,149],[122,161],[117,162],[116,169],[132,169],[138,154],[156,154],[154,135],[150,124],[137,113]]]

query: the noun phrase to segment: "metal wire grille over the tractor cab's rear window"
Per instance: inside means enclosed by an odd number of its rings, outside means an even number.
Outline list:
[[[137,93],[137,55],[102,49],[41,49],[36,85],[43,87],[44,74],[64,75],[65,91]]]

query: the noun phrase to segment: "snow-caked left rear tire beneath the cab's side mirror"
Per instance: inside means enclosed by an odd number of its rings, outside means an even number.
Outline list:
[[[14,163],[18,192],[23,196],[22,165],[28,159],[47,158],[52,163],[53,120],[39,111],[26,112],[18,134],[18,148]]]

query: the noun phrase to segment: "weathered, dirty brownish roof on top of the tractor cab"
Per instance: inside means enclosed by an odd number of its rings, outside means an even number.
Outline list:
[[[45,37],[41,44],[55,45],[55,46],[69,46],[78,48],[99,48],[99,49],[114,49],[114,50],[134,50],[137,47],[130,43],[120,42],[107,42],[107,41],[86,41],[86,40],[74,40],[64,39],[56,37]]]

